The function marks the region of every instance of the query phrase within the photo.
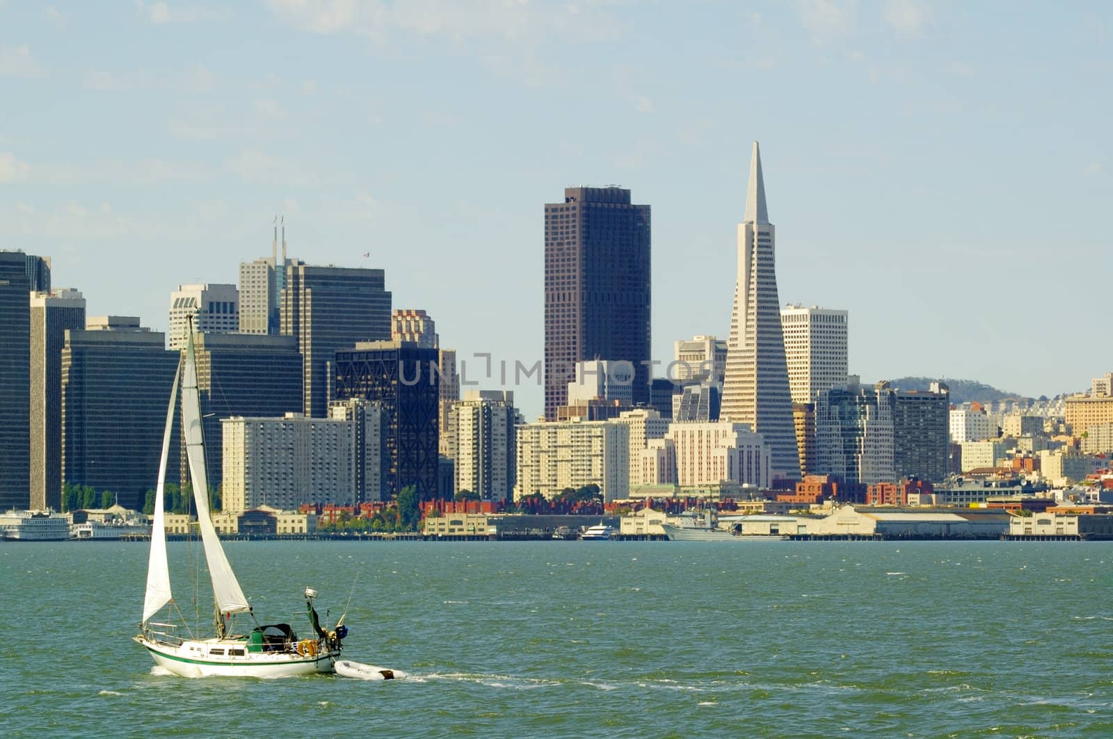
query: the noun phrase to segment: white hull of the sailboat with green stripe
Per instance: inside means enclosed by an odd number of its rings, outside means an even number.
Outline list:
[[[136,641],[147,648],[161,668],[184,678],[292,678],[317,672],[334,672],[341,651],[325,650],[313,657],[296,652],[248,652],[243,641],[184,641],[180,644],[155,642],[141,635]],[[213,653],[214,648],[223,652]],[[229,657],[236,649],[242,656]]]

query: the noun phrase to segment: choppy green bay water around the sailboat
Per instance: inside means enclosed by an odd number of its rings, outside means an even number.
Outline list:
[[[159,674],[145,545],[7,543],[0,732],[1113,736],[1113,544],[226,546],[260,618],[308,631],[306,585],[332,620],[352,593],[345,656],[414,678]],[[170,544],[205,620],[197,554]]]

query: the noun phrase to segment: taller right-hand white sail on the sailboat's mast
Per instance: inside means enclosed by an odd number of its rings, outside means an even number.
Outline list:
[[[221,613],[239,613],[250,610],[236,574],[228,564],[224,548],[216,535],[208,505],[208,474],[205,469],[205,441],[201,434],[200,398],[197,393],[197,365],[194,356],[193,321],[187,325],[186,368],[181,378],[181,428],[186,440],[186,457],[189,460],[189,479],[194,483],[194,501],[197,504],[197,525],[205,544],[205,560],[213,579],[213,597]]]

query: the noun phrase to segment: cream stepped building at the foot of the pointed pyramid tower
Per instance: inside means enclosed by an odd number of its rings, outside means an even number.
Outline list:
[[[720,482],[769,486],[769,446],[743,423],[673,423],[666,440],[676,454],[680,486]]]

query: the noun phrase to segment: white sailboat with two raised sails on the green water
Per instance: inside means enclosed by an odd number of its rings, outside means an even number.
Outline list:
[[[344,618],[336,628],[321,625],[313,599],[317,591],[305,589],[306,613],[313,635],[298,639],[287,623],[259,624],[252,607],[228,563],[216,528],[209,515],[208,480],[205,467],[205,442],[201,434],[200,402],[197,392],[197,367],[194,356],[193,321],[187,327],[186,358],[174,378],[170,404],[166,412],[162,434],[162,456],[155,491],[155,515],[150,535],[150,561],[147,569],[147,595],[144,600],[141,632],[135,641],[142,644],[155,662],[184,677],[253,677],[283,678],[315,672],[333,672],[341,656],[341,640],[347,635]],[[180,377],[179,377],[180,376]],[[205,560],[213,580],[215,635],[200,638],[188,632],[183,623],[152,621],[167,604],[174,605],[170,571],[166,553],[162,495],[166,463],[170,449],[174,407],[181,380],[181,427],[194,486],[197,523],[205,546]],[[176,607],[175,607],[176,608]],[[179,613],[180,615],[180,613]],[[236,633],[239,623],[249,622],[244,633]]]

